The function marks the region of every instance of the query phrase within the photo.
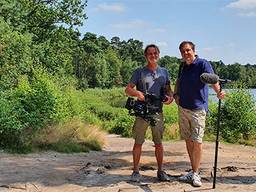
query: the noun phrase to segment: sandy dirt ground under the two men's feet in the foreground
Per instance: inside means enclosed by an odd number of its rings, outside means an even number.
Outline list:
[[[219,145],[216,188],[212,189],[215,143],[205,142],[201,174],[203,186],[195,188],[178,181],[190,169],[184,141],[164,143],[164,169],[170,182],[156,179],[156,161],[151,141],[143,145],[142,182],[129,181],[132,139],[107,135],[103,151],[28,155],[0,153],[0,192],[164,192],[164,191],[256,191],[256,148]]]

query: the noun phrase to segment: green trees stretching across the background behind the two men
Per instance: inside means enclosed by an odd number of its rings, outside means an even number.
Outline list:
[[[78,29],[87,19],[86,5],[85,0],[1,1],[1,89],[15,86],[18,76],[30,77],[38,67],[63,82],[74,82],[78,89],[126,85],[132,71],[145,64],[143,42],[81,34]],[[172,82],[180,62],[168,55],[159,60],[159,65],[169,70]],[[256,87],[256,65],[211,63],[221,78]]]

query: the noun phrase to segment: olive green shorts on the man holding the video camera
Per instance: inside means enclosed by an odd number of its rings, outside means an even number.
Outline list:
[[[145,134],[147,128],[151,127],[152,132],[152,140],[155,144],[161,144],[163,138],[164,131],[164,122],[163,122],[163,114],[159,113],[153,115],[155,119],[157,119],[155,126],[150,126],[149,122],[145,121],[141,117],[136,117],[134,125],[133,125],[133,138],[135,139],[136,144],[143,144],[145,141]]]

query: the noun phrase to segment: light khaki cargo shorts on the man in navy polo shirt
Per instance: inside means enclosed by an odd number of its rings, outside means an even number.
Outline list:
[[[205,129],[204,109],[189,110],[179,106],[179,127],[181,139],[202,143]]]

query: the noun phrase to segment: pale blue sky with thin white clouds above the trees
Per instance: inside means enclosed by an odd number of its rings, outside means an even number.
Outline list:
[[[82,34],[155,43],[175,57],[191,40],[208,60],[256,64],[256,0],[88,0],[86,14]]]

